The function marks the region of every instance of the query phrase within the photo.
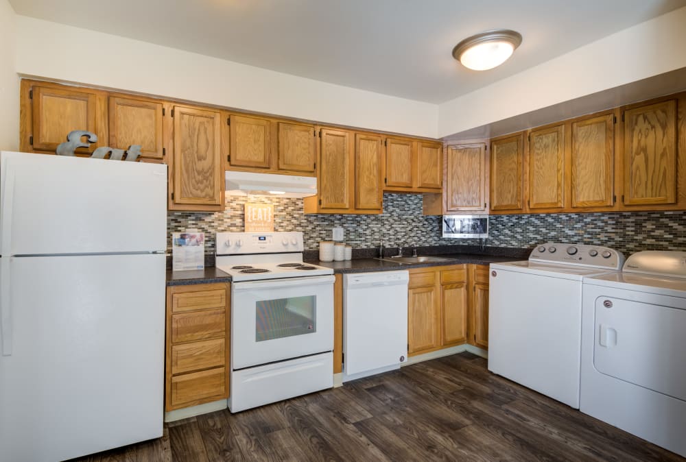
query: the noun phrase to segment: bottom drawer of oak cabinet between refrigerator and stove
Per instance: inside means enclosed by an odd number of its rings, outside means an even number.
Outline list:
[[[171,378],[171,406],[200,404],[226,398],[226,368],[217,367],[202,372]]]

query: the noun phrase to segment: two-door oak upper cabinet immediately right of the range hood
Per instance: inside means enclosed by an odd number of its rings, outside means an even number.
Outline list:
[[[319,138],[318,193],[305,213],[381,213],[381,136],[321,128]]]

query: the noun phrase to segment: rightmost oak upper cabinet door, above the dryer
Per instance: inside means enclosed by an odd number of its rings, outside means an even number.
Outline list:
[[[676,101],[624,112],[624,204],[676,202]]]

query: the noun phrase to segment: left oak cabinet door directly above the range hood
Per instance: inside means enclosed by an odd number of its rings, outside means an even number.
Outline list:
[[[268,169],[270,121],[233,114],[229,125],[230,165]]]

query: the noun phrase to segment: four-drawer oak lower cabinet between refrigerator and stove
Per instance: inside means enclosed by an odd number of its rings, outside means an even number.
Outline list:
[[[228,283],[167,287],[165,411],[228,398]]]

